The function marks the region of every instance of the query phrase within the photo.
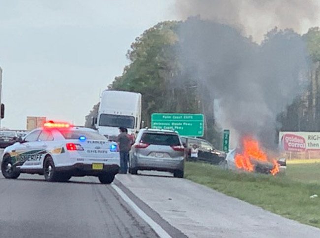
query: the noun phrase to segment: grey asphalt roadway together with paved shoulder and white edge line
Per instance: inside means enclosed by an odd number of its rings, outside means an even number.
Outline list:
[[[0,175],[0,238],[158,236],[318,238],[320,229],[168,173],[118,174],[111,185]]]

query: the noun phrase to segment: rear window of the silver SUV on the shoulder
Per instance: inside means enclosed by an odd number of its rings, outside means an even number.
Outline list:
[[[179,136],[176,134],[144,133],[141,136],[140,142],[146,144],[169,146],[181,145]]]

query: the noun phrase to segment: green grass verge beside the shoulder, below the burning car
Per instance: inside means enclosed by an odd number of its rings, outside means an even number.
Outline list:
[[[288,165],[286,175],[234,172],[186,163],[185,177],[284,217],[320,228],[320,165]],[[310,199],[317,194],[319,198]]]

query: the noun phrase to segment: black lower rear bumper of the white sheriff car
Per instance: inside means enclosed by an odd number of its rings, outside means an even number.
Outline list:
[[[76,163],[72,166],[56,167],[56,171],[69,173],[71,176],[98,176],[103,173],[117,174],[119,165],[105,165],[102,170],[94,170],[91,164]]]

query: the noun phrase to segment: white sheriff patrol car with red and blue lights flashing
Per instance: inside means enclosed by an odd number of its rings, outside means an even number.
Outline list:
[[[120,156],[115,142],[92,129],[53,121],[5,148],[1,163],[5,178],[37,173],[47,181],[67,181],[71,176],[89,175],[97,176],[101,183],[111,183],[119,168]]]

